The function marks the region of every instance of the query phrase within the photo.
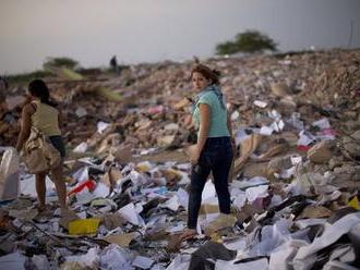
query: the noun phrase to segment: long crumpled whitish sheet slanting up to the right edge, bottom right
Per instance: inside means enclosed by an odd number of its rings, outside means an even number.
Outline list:
[[[324,232],[313,243],[301,247],[293,259],[293,267],[297,269],[309,269],[315,262],[313,255],[324,247],[327,247],[348,233],[353,226],[360,223],[360,212],[349,213],[334,224],[325,223]]]

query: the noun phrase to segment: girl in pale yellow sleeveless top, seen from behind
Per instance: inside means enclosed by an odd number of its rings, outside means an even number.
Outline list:
[[[50,94],[47,85],[41,79],[34,79],[28,84],[31,102],[25,105],[22,110],[21,132],[17,137],[16,150],[20,151],[27,140],[32,126],[38,128],[44,135],[48,136],[51,144],[59,150],[62,158],[65,156],[65,148],[61,137],[60,124],[61,112],[56,103],[50,101]],[[67,187],[63,180],[62,162],[50,172],[37,173],[36,193],[38,196],[38,210],[46,210],[46,175],[55,183],[59,197],[61,212],[67,209]]]

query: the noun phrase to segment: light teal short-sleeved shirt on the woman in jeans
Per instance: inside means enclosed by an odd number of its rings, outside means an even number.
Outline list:
[[[223,100],[224,102],[224,100]],[[227,137],[230,136],[227,125],[227,109],[224,102],[224,108],[217,98],[217,95],[213,90],[203,91],[200,94],[199,101],[195,103],[195,108],[192,114],[196,128],[200,127],[200,110],[199,105],[205,103],[211,108],[209,130],[207,137]],[[197,132],[199,136],[199,132]]]

